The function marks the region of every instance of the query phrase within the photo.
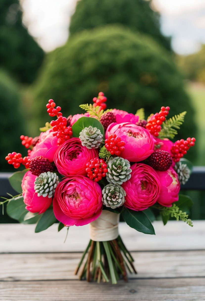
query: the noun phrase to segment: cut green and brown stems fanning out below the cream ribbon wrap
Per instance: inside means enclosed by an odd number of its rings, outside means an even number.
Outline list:
[[[127,281],[127,270],[130,273],[137,273],[133,261],[120,236],[109,241],[90,240],[75,275],[80,270],[80,280],[86,279],[88,282],[94,280],[100,283],[109,282],[111,279],[112,284],[117,284],[121,278]]]

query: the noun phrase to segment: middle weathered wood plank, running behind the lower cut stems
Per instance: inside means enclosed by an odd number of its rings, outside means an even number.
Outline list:
[[[0,281],[78,279],[82,253],[0,254]],[[133,252],[132,278],[205,277],[205,251]]]

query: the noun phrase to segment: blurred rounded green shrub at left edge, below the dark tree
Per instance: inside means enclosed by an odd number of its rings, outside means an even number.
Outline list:
[[[15,82],[0,70],[0,120],[1,120],[1,148],[0,166],[2,171],[17,171],[10,166],[5,157],[8,153],[16,151],[26,156],[27,151],[21,145],[20,135],[23,132],[23,109],[20,104],[20,94]],[[24,135],[26,135],[24,133]]]

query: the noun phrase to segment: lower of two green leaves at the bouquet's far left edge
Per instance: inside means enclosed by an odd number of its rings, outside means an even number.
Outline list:
[[[25,207],[26,205],[23,202],[23,196],[14,197],[13,199],[9,200],[6,206],[6,212],[12,219],[23,222],[24,216],[26,213],[28,213],[28,210],[26,210]]]

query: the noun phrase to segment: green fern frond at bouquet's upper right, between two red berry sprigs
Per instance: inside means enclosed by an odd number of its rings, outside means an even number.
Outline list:
[[[173,116],[172,118],[164,121],[162,123],[162,129],[159,133],[159,138],[171,138],[173,139],[175,135],[177,135],[177,130],[180,129],[180,126],[184,122],[184,117],[186,115],[186,111],[182,112],[178,115]]]

